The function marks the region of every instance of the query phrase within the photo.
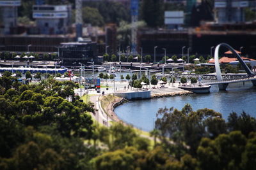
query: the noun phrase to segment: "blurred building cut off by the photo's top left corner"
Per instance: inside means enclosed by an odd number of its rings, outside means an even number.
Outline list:
[[[10,29],[17,26],[20,0],[0,0],[0,34],[10,34]]]

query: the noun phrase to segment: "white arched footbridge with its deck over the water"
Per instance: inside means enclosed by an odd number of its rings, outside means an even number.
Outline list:
[[[243,66],[244,70],[246,71],[247,75],[244,78],[236,79],[236,80],[223,80],[220,71],[220,63],[219,63],[219,49],[221,46],[225,46],[230,50],[234,55],[236,55],[237,59],[239,60],[240,64]],[[253,85],[256,86],[256,75],[249,69],[249,67],[245,64],[244,60],[241,56],[232,48],[230,45],[226,43],[220,43],[216,46],[214,52],[214,60],[215,60],[215,69],[217,74],[217,81],[211,82],[204,82],[204,85],[218,85],[220,90],[225,90],[228,86],[228,83],[238,83],[244,81],[252,81]]]

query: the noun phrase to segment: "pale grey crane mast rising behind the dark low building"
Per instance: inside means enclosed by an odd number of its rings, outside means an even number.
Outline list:
[[[76,0],[76,38],[82,37],[82,0]]]

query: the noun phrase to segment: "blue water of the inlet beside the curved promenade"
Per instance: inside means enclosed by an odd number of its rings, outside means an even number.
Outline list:
[[[222,113],[227,120],[229,113],[243,111],[256,117],[256,87],[250,81],[232,83],[227,91],[219,91],[217,85],[212,85],[209,94],[193,94],[191,96],[164,97],[140,101],[129,101],[115,109],[116,115],[125,122],[144,131],[151,131],[159,108],[177,108],[181,110],[186,103],[191,104],[193,110],[209,108]]]

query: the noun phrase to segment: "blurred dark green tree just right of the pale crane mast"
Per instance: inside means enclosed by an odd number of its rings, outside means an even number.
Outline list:
[[[83,13],[83,22],[86,24],[92,24],[93,26],[102,26],[104,25],[104,20],[102,15],[100,15],[97,8],[91,8],[85,6],[82,10]]]

